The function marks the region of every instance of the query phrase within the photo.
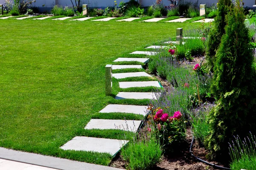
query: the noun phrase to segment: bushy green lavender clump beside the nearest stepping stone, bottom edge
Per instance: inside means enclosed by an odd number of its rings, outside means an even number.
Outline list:
[[[140,137],[130,141],[121,149],[121,156],[127,162],[128,169],[148,170],[160,162],[162,150],[156,137],[151,134],[148,138]]]

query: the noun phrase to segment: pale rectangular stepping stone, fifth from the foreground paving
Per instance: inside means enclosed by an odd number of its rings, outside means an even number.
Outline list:
[[[148,81],[148,82],[119,82],[120,88],[135,88],[135,87],[149,87],[154,86],[160,88],[158,81]]]

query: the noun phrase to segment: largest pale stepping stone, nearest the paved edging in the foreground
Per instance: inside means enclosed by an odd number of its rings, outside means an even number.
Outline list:
[[[61,149],[110,153],[113,156],[128,142],[126,140],[76,136],[64,144]]]

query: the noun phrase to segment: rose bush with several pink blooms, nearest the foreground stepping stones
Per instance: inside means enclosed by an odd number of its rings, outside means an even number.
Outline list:
[[[163,147],[173,151],[185,139],[185,121],[182,119],[182,114],[176,111],[171,116],[162,108],[154,108],[152,105],[148,107],[148,111],[150,112],[148,123],[155,127],[150,128],[150,131],[155,130]]]

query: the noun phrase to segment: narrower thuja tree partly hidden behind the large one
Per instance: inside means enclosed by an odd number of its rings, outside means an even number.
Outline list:
[[[214,18],[212,31],[209,33],[207,42],[206,59],[209,69],[212,71],[215,62],[215,54],[221,43],[221,37],[225,34],[225,16],[229,8],[233,7],[232,0],[218,0],[217,15]]]

